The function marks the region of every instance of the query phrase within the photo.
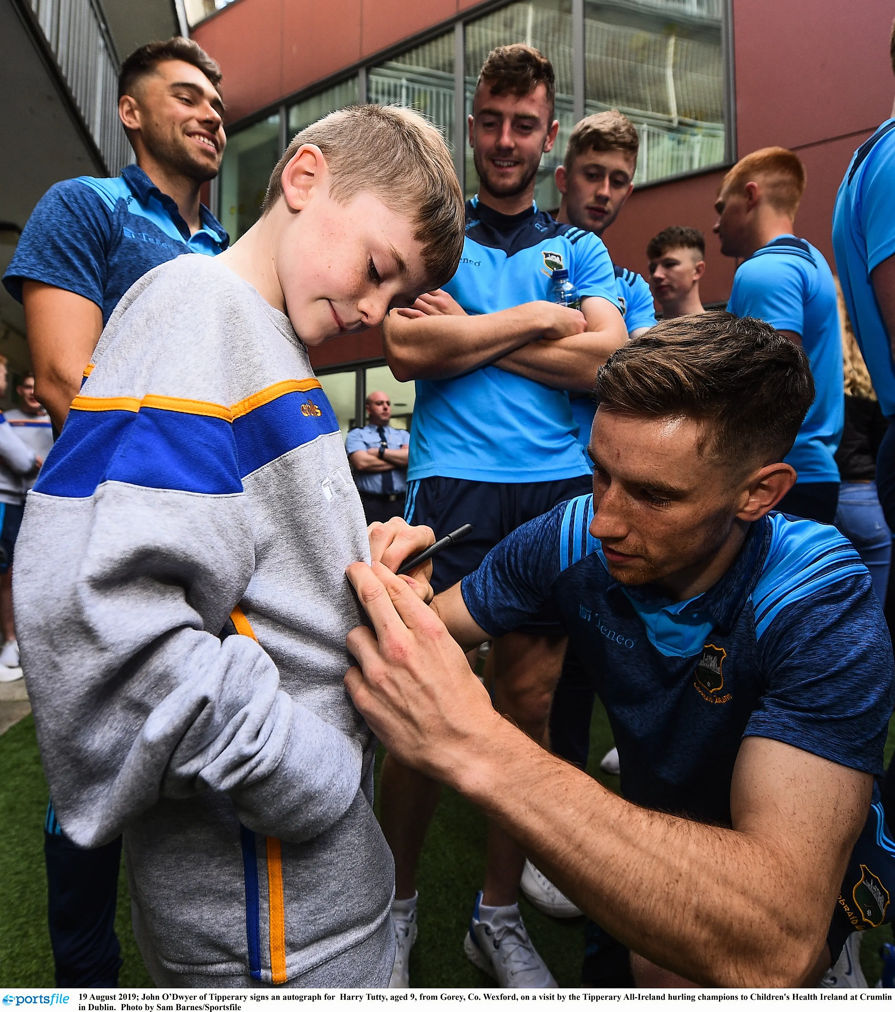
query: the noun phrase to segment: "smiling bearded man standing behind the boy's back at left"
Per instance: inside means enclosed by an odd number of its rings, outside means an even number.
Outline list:
[[[137,156],[112,179],[81,176],[40,198],[3,276],[25,311],[35,395],[61,431],[118,300],[183,253],[209,256],[228,235],[199,200],[227,137],[220,69],[195,43],[150,43],[121,65],[118,114]],[[44,824],[50,937],[60,987],[116,987],[121,839],[91,850]]]

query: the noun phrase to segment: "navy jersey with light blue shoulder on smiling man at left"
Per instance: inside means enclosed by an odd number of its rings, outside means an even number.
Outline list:
[[[131,284],[182,253],[215,256],[230,239],[210,210],[189,234],[177,204],[137,165],[113,179],[81,176],[57,183],[37,202],[3,284],[21,302],[22,281],[43,281],[89,299],[103,326]]]

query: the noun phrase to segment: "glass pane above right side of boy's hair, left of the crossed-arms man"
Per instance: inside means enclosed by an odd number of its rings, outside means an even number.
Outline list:
[[[454,33],[423,43],[367,73],[367,100],[431,119],[454,150]]]

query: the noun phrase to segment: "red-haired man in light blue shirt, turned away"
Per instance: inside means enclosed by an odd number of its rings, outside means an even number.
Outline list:
[[[725,256],[741,257],[727,310],[765,320],[805,349],[816,397],[787,462],[798,475],[781,509],[832,523],[839,501],[833,459],[845,402],[836,289],[823,254],[793,229],[805,192],[805,168],[785,148],[763,148],[724,177],[715,232]]]

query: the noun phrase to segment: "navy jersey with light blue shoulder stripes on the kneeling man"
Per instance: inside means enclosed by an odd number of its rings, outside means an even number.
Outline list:
[[[870,575],[834,527],[771,514],[718,583],[672,602],[613,580],[592,519],[592,496],[557,506],[461,589],[491,636],[552,608],[606,706],[626,798],[730,825],[748,735],[882,772],[892,646]]]

